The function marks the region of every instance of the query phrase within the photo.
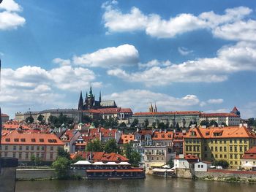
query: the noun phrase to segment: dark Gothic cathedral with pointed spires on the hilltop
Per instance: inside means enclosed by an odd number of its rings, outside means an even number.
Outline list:
[[[86,92],[86,98],[83,101],[82,91],[78,101],[78,110],[97,110],[103,108],[117,108],[114,100],[102,101],[101,92],[99,92],[99,101],[95,100],[95,95],[90,88],[89,94]]]

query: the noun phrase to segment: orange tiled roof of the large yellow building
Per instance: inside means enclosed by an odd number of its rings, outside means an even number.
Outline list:
[[[194,133],[192,133],[194,132]],[[255,138],[256,134],[245,126],[190,128],[184,138]]]

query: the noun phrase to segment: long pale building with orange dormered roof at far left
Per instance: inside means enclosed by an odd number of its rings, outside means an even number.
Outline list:
[[[31,155],[42,161],[55,161],[64,143],[55,134],[12,131],[1,139],[1,156],[31,161]]]

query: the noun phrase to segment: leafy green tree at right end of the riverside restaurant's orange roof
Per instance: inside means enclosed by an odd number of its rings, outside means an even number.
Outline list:
[[[140,153],[132,150],[132,143],[124,145],[124,154],[129,159],[129,164],[132,164],[132,166],[139,166],[141,156]]]

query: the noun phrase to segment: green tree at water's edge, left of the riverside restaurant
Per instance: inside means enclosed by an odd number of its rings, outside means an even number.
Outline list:
[[[59,157],[53,162],[52,166],[59,179],[66,179],[68,177],[69,164],[69,159],[65,157]]]

